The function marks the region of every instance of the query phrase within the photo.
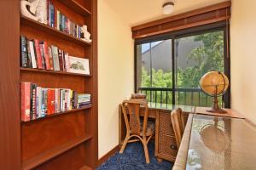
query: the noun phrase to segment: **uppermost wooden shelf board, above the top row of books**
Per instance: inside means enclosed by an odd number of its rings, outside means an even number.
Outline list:
[[[77,12],[78,14],[81,14],[83,16],[89,16],[90,10],[88,10],[87,8],[84,8],[82,5],[80,5],[79,3],[77,3],[74,0],[60,0],[61,3],[66,4],[68,8],[72,8],[73,11]]]

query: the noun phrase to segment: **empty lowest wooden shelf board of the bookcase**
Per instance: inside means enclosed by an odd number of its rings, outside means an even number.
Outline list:
[[[50,159],[54,158],[55,156],[59,156],[62,153],[66,152],[67,150],[71,150],[73,147],[78,146],[79,144],[83,144],[84,142],[92,139],[92,136],[89,134],[84,134],[77,139],[73,139],[68,141],[65,144],[61,144],[58,147],[55,147],[52,150],[44,151],[43,153],[39,154],[38,156],[33,156],[32,158],[22,162],[22,170],[32,169],[41,165],[45,161],[49,161]],[[89,169],[89,168],[87,168]]]

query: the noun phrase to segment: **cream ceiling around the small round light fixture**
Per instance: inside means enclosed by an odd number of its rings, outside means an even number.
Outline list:
[[[162,14],[163,3],[168,0],[104,0],[110,8],[120,15],[130,26],[137,26],[148,21],[165,18],[173,14],[181,14],[196,8],[206,7],[229,0],[171,0],[174,12]],[[170,0],[169,0],[170,1]]]

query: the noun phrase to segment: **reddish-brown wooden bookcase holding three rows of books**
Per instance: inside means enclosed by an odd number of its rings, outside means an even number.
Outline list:
[[[52,0],[55,8],[79,26],[88,26],[92,42],[19,16],[20,35],[61,48],[68,54],[90,61],[90,75],[15,67],[19,82],[33,82],[44,88],[70,88],[79,94],[91,94],[91,105],[63,111],[29,122],[20,122],[20,169],[95,169],[98,161],[97,132],[97,1]],[[20,7],[19,7],[20,9]],[[19,51],[19,48],[17,48]],[[20,52],[19,52],[20,53]],[[20,56],[15,57],[18,63]],[[19,86],[16,86],[19,92]],[[20,94],[15,95],[20,100]],[[20,102],[16,107],[20,107]],[[19,110],[20,111],[20,110]],[[19,115],[16,111],[16,115]],[[17,169],[17,168],[15,168]]]

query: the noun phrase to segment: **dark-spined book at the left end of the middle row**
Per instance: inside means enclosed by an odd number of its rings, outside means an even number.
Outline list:
[[[26,37],[20,36],[20,66],[24,68],[29,68],[29,60],[27,56],[27,42]]]

